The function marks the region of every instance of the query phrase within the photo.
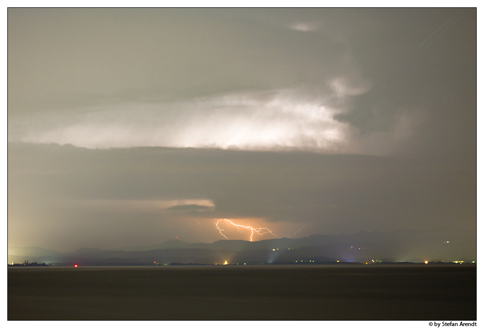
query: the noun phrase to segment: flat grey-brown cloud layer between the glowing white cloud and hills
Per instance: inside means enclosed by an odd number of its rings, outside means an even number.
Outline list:
[[[207,234],[196,218],[305,223],[303,236],[456,222],[472,229],[476,216],[475,166],[363,155],[10,144],[8,184],[12,240],[21,240],[14,233],[20,227],[37,226],[39,242],[48,235],[58,247],[59,225],[81,234],[95,225],[91,238],[117,246],[132,234],[153,243],[168,238],[151,231],[154,221],[170,233],[214,241],[215,226]],[[149,203],[168,199],[211,200],[215,208],[190,211],[187,226],[173,209],[209,206],[166,206],[167,213]]]

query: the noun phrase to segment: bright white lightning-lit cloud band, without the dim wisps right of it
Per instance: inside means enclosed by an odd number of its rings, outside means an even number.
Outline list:
[[[23,126],[13,124],[9,136],[10,141],[86,148],[344,150],[351,127],[334,118],[344,110],[334,107],[329,97],[310,98],[297,91],[279,90],[262,99],[246,93],[183,102],[122,103],[70,116],[44,113],[24,121]],[[343,97],[354,93],[341,92]]]

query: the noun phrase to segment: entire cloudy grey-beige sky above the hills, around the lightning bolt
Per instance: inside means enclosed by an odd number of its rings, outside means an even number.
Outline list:
[[[7,13],[8,246],[476,230],[475,8]]]

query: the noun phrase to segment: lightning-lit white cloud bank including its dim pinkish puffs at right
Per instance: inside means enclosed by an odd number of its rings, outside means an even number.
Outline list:
[[[354,119],[337,117],[349,113],[348,103],[371,90],[371,83],[340,76],[326,86],[316,96],[282,89],[92,106],[69,115],[43,112],[11,120],[8,136],[11,142],[93,149],[162,146],[393,155],[423,133],[429,117],[425,104],[397,109],[387,129],[362,134]]]

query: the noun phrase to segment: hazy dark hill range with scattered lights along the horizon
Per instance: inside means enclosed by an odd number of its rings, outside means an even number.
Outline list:
[[[348,235],[311,235],[257,242],[219,240],[212,244],[168,240],[155,246],[111,250],[81,248],[60,253],[41,247],[9,247],[8,261],[84,265],[168,263],[274,263],[295,261],[423,262],[475,261],[475,232],[458,226],[398,229]]]

